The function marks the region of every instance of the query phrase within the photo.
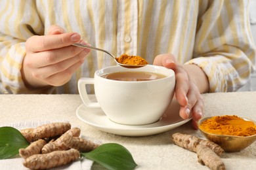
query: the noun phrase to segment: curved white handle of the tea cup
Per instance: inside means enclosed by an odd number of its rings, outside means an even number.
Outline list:
[[[83,103],[87,106],[87,107],[91,107],[91,108],[98,108],[100,107],[100,105],[98,104],[98,102],[92,102],[89,99],[89,95],[87,93],[87,90],[85,88],[86,84],[95,84],[95,79],[94,78],[79,78],[78,82],[77,82],[77,86],[78,86],[78,92],[79,95],[83,101]]]

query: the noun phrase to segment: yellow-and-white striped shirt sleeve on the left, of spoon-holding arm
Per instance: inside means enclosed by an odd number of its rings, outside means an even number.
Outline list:
[[[26,39],[43,34],[36,1],[1,1],[0,5],[0,93],[47,93],[26,88],[21,75]]]

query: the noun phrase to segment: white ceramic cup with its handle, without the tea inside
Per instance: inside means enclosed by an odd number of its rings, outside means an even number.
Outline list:
[[[123,71],[145,71],[165,77],[146,81],[120,81],[102,77]],[[97,102],[90,101],[85,88],[87,84],[94,84]],[[87,107],[101,107],[110,120],[126,125],[152,124],[160,120],[173,99],[174,88],[174,71],[156,65],[139,69],[127,69],[118,65],[106,67],[96,71],[94,78],[82,77],[78,81],[79,95]]]

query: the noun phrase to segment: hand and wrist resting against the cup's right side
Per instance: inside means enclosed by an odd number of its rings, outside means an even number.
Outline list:
[[[204,107],[201,93],[209,90],[205,73],[197,65],[179,65],[171,54],[156,56],[153,64],[175,71],[175,97],[181,105],[179,114],[183,119],[192,116],[192,124],[197,129],[196,121],[202,117]]]

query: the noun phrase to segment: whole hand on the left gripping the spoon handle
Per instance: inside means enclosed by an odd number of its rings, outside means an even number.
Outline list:
[[[26,41],[26,56],[22,63],[22,78],[29,88],[61,86],[68,82],[83,63],[89,49],[72,46],[80,42],[77,33],[65,33],[58,25],[48,35],[32,36]]]

